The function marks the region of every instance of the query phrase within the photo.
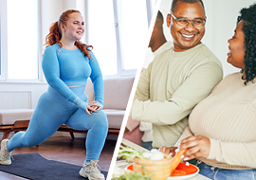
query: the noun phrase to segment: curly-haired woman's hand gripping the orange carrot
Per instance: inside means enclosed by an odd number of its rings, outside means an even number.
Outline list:
[[[180,143],[180,150],[187,149],[184,154],[185,160],[205,157],[210,153],[210,139],[203,135],[192,135],[183,139]]]

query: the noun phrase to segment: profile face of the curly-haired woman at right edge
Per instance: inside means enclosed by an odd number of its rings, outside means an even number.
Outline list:
[[[233,66],[244,69],[245,68],[245,34],[242,30],[244,21],[240,21],[237,24],[235,33],[232,38],[229,39],[229,53],[228,53],[228,63],[231,63]]]

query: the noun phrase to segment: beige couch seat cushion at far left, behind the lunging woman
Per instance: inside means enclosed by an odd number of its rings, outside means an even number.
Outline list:
[[[0,125],[14,124],[16,120],[30,119],[33,112],[33,109],[0,110]]]

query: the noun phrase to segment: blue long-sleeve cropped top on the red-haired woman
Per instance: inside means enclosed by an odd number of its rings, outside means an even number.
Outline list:
[[[42,67],[49,86],[57,93],[73,103],[79,108],[86,110],[88,106],[87,99],[82,100],[68,86],[82,87],[84,94],[87,79],[90,77],[93,82],[95,100],[97,104],[103,107],[104,84],[102,80],[100,65],[89,51],[92,59],[84,56],[82,51],[77,48],[75,50],[67,50],[58,44],[46,47]]]

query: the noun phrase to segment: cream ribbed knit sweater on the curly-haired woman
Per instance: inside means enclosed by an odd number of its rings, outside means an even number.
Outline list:
[[[228,75],[192,110],[189,127],[193,135],[210,137],[210,154],[199,158],[225,169],[256,168],[256,83]],[[187,128],[179,141],[189,136]]]

